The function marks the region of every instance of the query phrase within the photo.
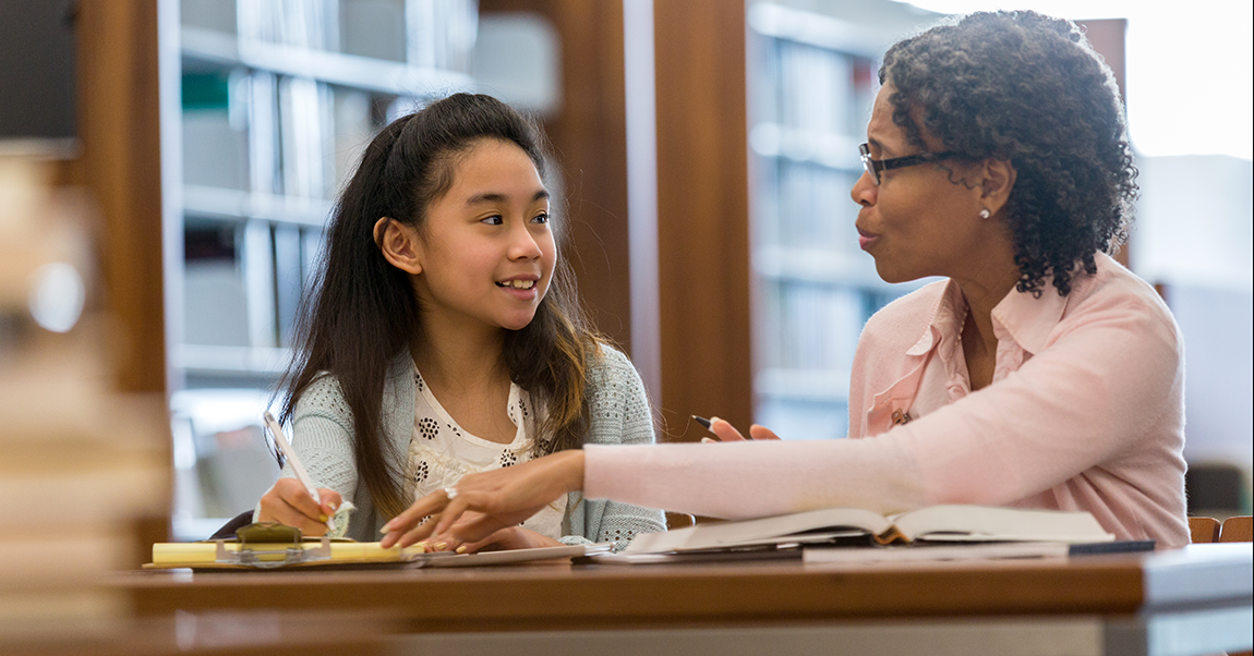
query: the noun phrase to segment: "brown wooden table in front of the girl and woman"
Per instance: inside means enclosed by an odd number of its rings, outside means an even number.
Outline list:
[[[1208,653],[1248,650],[1254,551],[1071,561],[134,572],[140,616],[374,610],[399,652]]]

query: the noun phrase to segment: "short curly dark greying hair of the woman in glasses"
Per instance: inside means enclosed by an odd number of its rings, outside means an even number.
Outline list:
[[[1018,172],[1006,217],[1017,288],[1040,295],[1047,276],[1071,292],[1078,267],[1127,240],[1136,167],[1110,68],[1071,21],[1033,11],[979,13],[890,48],[893,123],[927,149],[920,125],[969,159]]]

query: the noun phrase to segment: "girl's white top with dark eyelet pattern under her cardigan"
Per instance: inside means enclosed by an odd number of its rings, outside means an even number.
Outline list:
[[[418,388],[414,406],[414,436],[405,465],[405,494],[418,500],[431,492],[455,485],[461,477],[524,463],[534,453],[535,409],[527,390],[510,383],[507,413],[517,426],[509,444],[499,444],[466,433],[431,394],[423,375],[414,369]],[[563,536],[567,497],[563,494],[523,522],[542,536]]]

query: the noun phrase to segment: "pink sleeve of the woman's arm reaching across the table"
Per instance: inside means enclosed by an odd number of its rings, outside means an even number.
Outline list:
[[[938,503],[1002,505],[1137,440],[1167,439],[1156,423],[1179,403],[1183,380],[1171,320],[1144,306],[1112,305],[1060,329],[1052,345],[1008,378],[879,436],[588,445],[584,492],[724,518],[830,505],[883,513]]]

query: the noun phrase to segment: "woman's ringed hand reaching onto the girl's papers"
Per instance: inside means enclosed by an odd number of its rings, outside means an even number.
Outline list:
[[[456,490],[455,498],[444,490],[433,492],[387,522],[382,547],[408,547],[430,536],[478,543],[503,528],[517,527],[562,494],[583,489],[583,452],[568,450],[470,474],[450,489]],[[466,511],[480,514],[459,522]],[[431,519],[418,526],[426,516]]]

